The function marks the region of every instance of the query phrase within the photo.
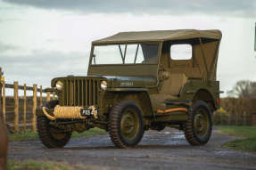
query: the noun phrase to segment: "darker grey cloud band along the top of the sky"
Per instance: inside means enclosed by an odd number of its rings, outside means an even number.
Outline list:
[[[12,4],[29,5],[44,9],[60,9],[80,12],[128,12],[128,13],[171,13],[171,14],[227,14],[229,16],[256,16],[255,0],[4,0]]]

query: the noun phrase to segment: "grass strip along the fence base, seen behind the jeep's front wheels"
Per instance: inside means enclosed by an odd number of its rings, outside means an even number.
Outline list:
[[[99,134],[106,134],[103,129],[99,128],[92,128],[83,133],[72,133],[72,138],[84,137],[84,136],[92,136],[92,135],[99,135]],[[30,131],[24,133],[21,132],[19,134],[10,134],[9,135],[10,141],[27,141],[27,140],[38,140],[38,134],[32,133]]]

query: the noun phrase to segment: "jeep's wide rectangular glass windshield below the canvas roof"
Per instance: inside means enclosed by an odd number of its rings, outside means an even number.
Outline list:
[[[91,64],[157,64],[158,47],[158,44],[95,45]]]

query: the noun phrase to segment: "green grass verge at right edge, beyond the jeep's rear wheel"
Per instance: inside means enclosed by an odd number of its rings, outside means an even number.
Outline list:
[[[256,151],[256,126],[221,125],[219,132],[241,137],[241,140],[227,142],[224,147],[234,150]]]

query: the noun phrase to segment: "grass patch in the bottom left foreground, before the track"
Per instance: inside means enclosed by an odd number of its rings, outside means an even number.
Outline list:
[[[7,170],[74,170],[71,166],[63,163],[55,163],[49,161],[8,161]]]

